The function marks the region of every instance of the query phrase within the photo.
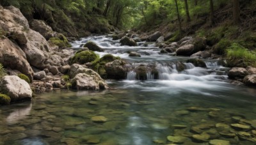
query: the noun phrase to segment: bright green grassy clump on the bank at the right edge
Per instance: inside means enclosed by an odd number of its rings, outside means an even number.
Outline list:
[[[230,67],[256,66],[256,52],[248,51],[238,43],[232,43],[227,50],[227,65]]]

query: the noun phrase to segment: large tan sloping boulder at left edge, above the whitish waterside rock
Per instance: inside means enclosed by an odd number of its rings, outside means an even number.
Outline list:
[[[0,63],[10,69],[26,74],[33,81],[33,70],[26,60],[26,54],[9,39],[0,39]]]

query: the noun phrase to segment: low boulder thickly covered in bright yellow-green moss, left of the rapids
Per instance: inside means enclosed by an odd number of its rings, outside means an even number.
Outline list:
[[[98,56],[94,52],[86,50],[80,53],[76,53],[75,56],[71,59],[71,64],[86,64],[88,62],[93,62],[96,59],[98,59]]]

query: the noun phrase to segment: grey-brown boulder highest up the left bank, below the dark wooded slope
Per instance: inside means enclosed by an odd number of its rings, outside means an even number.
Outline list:
[[[52,31],[52,28],[42,20],[32,20],[30,28],[39,32],[47,40],[56,37],[56,32]]]

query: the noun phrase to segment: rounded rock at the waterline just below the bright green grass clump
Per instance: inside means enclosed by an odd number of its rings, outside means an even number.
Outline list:
[[[248,72],[243,67],[233,67],[230,71],[228,71],[228,78],[236,79],[236,78],[244,78]]]

